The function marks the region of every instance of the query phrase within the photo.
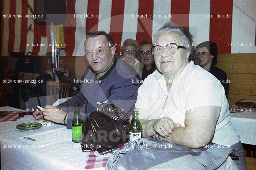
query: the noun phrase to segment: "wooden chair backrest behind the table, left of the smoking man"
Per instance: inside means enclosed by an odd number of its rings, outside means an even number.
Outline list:
[[[56,102],[56,95],[59,95],[59,98],[67,98],[68,93],[69,93],[69,88],[71,87],[70,83],[60,83],[60,82],[53,82],[50,81],[48,82],[48,85],[50,86],[50,100],[51,100],[51,105]],[[52,87],[54,87],[52,90]],[[59,92],[56,94],[57,89],[59,89]],[[54,94],[53,94],[54,92]],[[54,102],[52,99],[52,96],[54,98]]]

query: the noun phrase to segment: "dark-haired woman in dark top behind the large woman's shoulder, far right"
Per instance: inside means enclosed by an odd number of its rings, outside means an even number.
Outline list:
[[[229,94],[229,83],[227,82],[227,74],[225,71],[219,69],[217,64],[218,48],[216,43],[211,41],[204,41],[196,46],[197,59],[199,65],[205,70],[214,75],[225,89],[226,97]]]

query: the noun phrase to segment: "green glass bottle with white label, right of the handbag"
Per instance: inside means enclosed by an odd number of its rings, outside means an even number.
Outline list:
[[[133,111],[132,121],[129,127],[129,141],[142,138],[142,124],[139,119],[139,111]]]

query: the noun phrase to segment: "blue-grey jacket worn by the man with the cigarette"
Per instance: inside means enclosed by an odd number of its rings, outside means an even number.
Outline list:
[[[67,128],[71,128],[74,116],[74,104],[80,104],[80,112],[84,120],[91,112],[104,107],[108,103],[113,103],[117,107],[124,109],[130,116],[137,100],[139,84],[136,79],[140,79],[137,72],[121,59],[114,57],[114,63],[105,75],[94,80],[94,72],[89,67],[82,83],[82,88],[78,95],[72,97],[57,107],[67,109]]]

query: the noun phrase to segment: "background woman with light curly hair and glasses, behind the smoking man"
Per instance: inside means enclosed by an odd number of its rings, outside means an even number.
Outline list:
[[[135,66],[139,63],[139,60],[136,59],[139,51],[139,44],[136,40],[127,39],[124,41],[124,46],[121,46],[121,54],[123,55],[123,60],[130,66]]]

